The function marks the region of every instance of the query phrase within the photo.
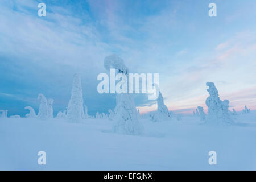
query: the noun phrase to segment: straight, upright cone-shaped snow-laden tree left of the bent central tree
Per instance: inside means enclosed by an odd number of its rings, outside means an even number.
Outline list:
[[[66,119],[68,122],[81,123],[84,115],[84,101],[82,98],[81,78],[73,75],[71,98],[68,103]]]

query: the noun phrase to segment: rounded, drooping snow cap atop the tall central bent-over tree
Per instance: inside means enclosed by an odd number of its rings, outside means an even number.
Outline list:
[[[123,60],[115,54],[106,56],[104,59],[104,68],[110,70],[110,68],[118,69],[119,73],[128,73],[128,69],[123,63]]]

